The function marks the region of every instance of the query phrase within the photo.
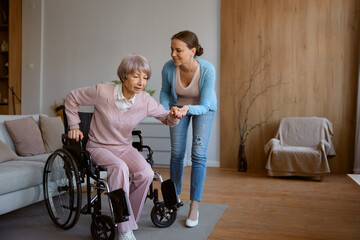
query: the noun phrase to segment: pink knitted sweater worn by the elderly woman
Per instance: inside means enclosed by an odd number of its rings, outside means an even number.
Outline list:
[[[136,95],[131,108],[122,112],[115,104],[113,84],[98,84],[72,90],[66,97],[65,110],[70,129],[78,128],[79,106],[94,106],[89,132],[89,147],[113,145],[127,148],[132,144],[132,131],[146,117],[154,117],[169,126],[179,119],[172,118],[169,111],[157,103],[147,92]]]

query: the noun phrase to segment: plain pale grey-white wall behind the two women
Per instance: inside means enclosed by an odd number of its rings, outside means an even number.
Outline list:
[[[170,38],[194,31],[202,58],[217,70],[220,92],[220,0],[23,0],[22,113],[54,115],[50,106],[74,88],[117,79],[128,53],[149,59],[148,89],[159,100]],[[220,104],[218,104],[220,105]],[[219,165],[219,112],[208,150]]]

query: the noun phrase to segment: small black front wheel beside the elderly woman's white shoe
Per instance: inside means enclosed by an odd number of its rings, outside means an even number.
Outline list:
[[[114,240],[115,223],[111,217],[106,215],[96,216],[95,221],[91,223],[91,236],[95,240]]]

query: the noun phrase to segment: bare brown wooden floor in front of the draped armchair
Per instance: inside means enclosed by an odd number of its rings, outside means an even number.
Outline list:
[[[155,170],[169,177],[168,169]],[[186,167],[183,201],[189,182]],[[360,185],[346,174],[320,182],[208,168],[203,202],[228,205],[208,240],[360,239]]]

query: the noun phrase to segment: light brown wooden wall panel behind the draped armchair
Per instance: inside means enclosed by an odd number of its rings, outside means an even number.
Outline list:
[[[359,13],[357,0],[221,1],[221,167],[237,168],[234,99],[242,96],[258,60],[269,50],[250,95],[279,79],[285,84],[269,89],[250,109],[250,124],[279,111],[249,135],[249,170],[265,168],[264,144],[276,134],[281,118],[295,116],[328,118],[337,151],[329,160],[331,170],[352,170]]]

